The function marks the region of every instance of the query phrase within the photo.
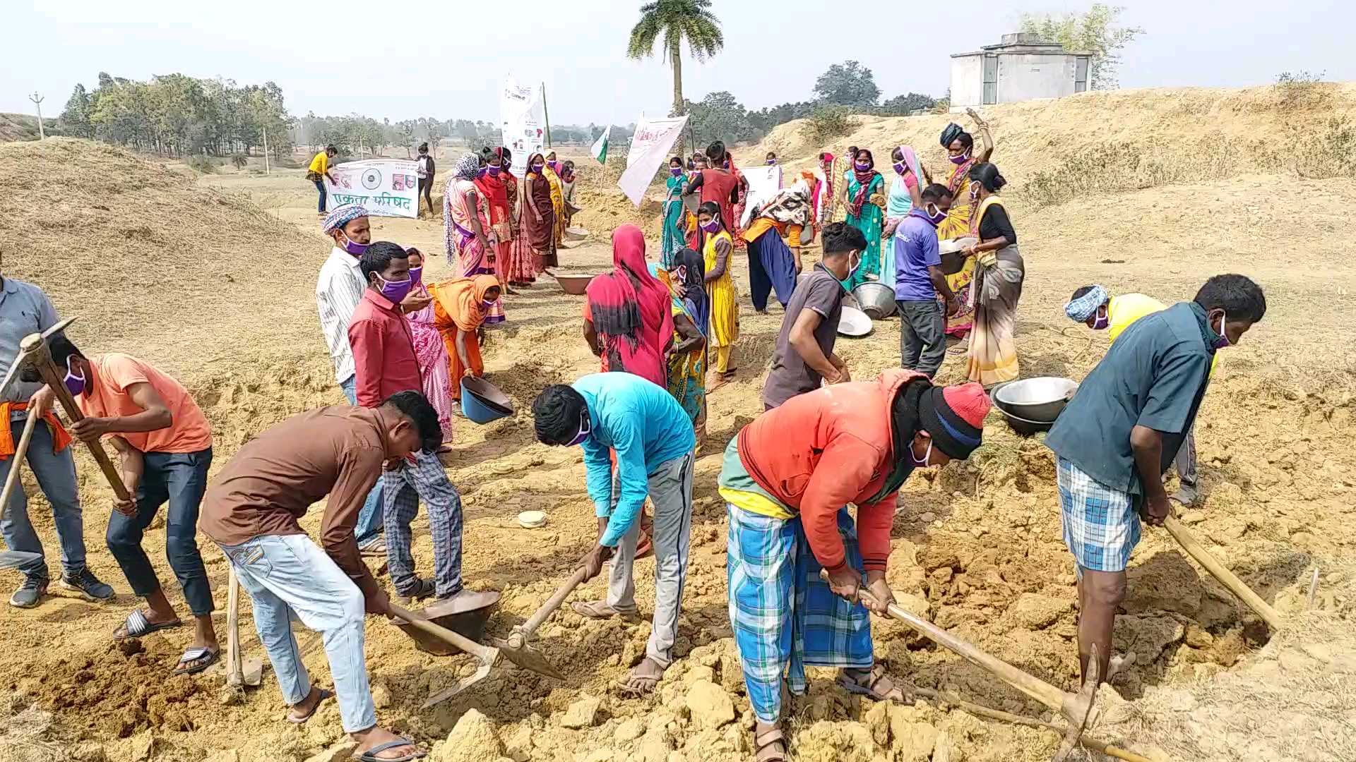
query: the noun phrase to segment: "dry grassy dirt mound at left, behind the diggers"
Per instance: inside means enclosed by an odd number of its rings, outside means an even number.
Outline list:
[[[327,241],[244,198],[75,138],[0,145],[0,174],[5,274],[79,316],[71,335],[87,350],[201,372],[251,348],[286,354],[289,324],[315,320],[296,286],[315,283]]]

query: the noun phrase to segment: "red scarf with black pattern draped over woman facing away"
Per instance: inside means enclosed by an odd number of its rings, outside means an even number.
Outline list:
[[[645,267],[645,236],[636,225],[612,235],[613,271],[589,282],[589,310],[603,339],[607,366],[664,386],[664,347],[673,340],[669,287]]]

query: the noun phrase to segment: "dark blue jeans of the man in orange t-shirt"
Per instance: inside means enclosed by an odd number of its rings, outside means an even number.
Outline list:
[[[212,447],[197,453],[145,453],[145,473],[137,487],[137,515],[113,511],[108,517],[108,550],[122,567],[132,591],[145,598],[160,590],[156,569],[141,549],[141,538],[160,506],[165,515],[165,557],[174,569],[188,609],[195,617],[212,613],[212,586],[198,553],[198,506],[207,491]]]

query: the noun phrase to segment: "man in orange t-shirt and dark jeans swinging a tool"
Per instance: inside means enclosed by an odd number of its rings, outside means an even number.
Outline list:
[[[71,433],[85,442],[106,438],[122,460],[122,483],[134,500],[115,500],[108,517],[108,549],[132,591],[146,599],[114,637],[138,637],[182,626],[165,598],[141,538],[160,506],[165,517],[165,555],[194,616],[193,644],[175,674],[199,673],[217,660],[212,626],[212,586],[198,553],[198,506],[207,489],[212,428],[188,390],[153,365],[119,353],[85,357],[64,334],[49,342],[52,359],[65,370],[66,389],[84,419]],[[43,386],[34,399],[50,397]]]

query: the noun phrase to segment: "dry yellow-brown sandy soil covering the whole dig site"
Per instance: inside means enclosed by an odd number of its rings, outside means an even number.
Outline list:
[[[1336,118],[1353,100],[1344,87],[1307,118]],[[1142,121],[1125,122],[1140,111]],[[1165,533],[1146,530],[1116,632],[1117,649],[1134,652],[1136,663],[1116,677],[1115,693],[1104,690],[1108,713],[1098,735],[1154,759],[1352,759],[1356,347],[1347,323],[1356,268],[1341,241],[1356,191],[1347,179],[1315,183],[1267,164],[1262,153],[1243,153],[1241,168],[1227,176],[1058,203],[1021,193],[1050,161],[1050,146],[1062,142],[1096,151],[1105,141],[1143,138],[1173,151],[1169,138],[1189,134],[1180,155],[1165,155],[1184,161],[1203,125],[1226,125],[1230,136],[1268,134],[1281,119],[1268,89],[1098,94],[995,108],[991,119],[995,160],[1016,188],[1012,209],[1028,268],[1018,323],[1024,374],[1081,378],[1102,355],[1105,338],[1059,309],[1088,282],[1168,301],[1189,298],[1211,274],[1241,271],[1268,296],[1265,321],[1223,355],[1201,408],[1196,434],[1205,500],[1184,518],[1295,625],[1272,637]],[[930,151],[936,138],[929,136],[944,122],[864,119],[869,140],[850,137],[877,156],[904,141]],[[781,127],[766,141],[792,164],[819,151],[796,130]],[[1039,141],[1037,134],[1051,137]],[[62,180],[75,151],[89,157],[99,182],[75,183],[76,195],[65,202],[64,182],[0,197],[0,240],[26,243],[5,247],[5,274],[42,283],[62,313],[81,316],[72,331],[79,343],[132,351],[178,373],[212,419],[218,462],[270,423],[340,400],[312,297],[328,247],[316,235],[313,190],[300,171],[193,180],[172,167],[73,141],[42,149],[0,145],[0,167],[7,175],[41,171]],[[643,220],[647,233],[656,232],[654,206],[635,210],[597,180],[595,165],[580,167],[587,209],[579,220],[595,240],[561,259],[570,268],[597,271],[610,259],[603,241],[616,224]],[[442,251],[438,221],[381,220],[376,236]],[[434,256],[430,275],[439,273],[445,264]],[[736,262],[736,279],[744,289],[743,262]],[[488,378],[519,411],[542,385],[595,369],[579,338],[579,308],[578,297],[549,281],[507,301],[509,323],[490,335],[485,355]],[[681,659],[659,696],[631,700],[613,691],[643,654],[647,622],[582,621],[567,607],[538,632],[540,647],[567,681],[496,671],[471,693],[422,710],[427,696],[469,674],[472,662],[416,652],[399,629],[370,620],[366,651],[384,723],[435,744],[434,758],[445,762],[751,758],[744,729],[751,713],[725,614],[724,506],[715,483],[717,453],[761,409],[758,390],[780,319],[776,308],[758,316],[744,302],[742,373],[711,397]],[[887,320],[865,339],[841,339],[838,351],[857,378],[868,378],[898,362],[898,323]],[[941,380],[957,381],[963,365],[963,357],[949,355]],[[1017,437],[997,414],[987,423],[986,445],[970,462],[919,473],[906,485],[890,580],[938,625],[1067,689],[1077,681],[1074,576],[1060,540],[1052,456],[1040,437]],[[460,422],[447,464],[465,503],[465,576],[475,587],[503,591],[490,625],[502,635],[568,576],[591,540],[583,465],[575,450],[536,443],[526,412],[487,427]],[[0,685],[12,693],[9,719],[0,723],[0,759],[263,762],[339,754],[334,706],[304,728],[287,725],[271,674],[260,689],[222,704],[220,675],[161,677],[183,645],[182,632],[151,636],[137,654],[110,645],[108,633],[133,598],[102,548],[107,487],[88,458],[79,465],[91,565],[119,595],[95,605],[58,591],[31,611],[0,610]],[[548,526],[518,527],[514,517],[527,508],[546,511]],[[41,498],[31,499],[31,513],[54,548]],[[309,523],[317,523],[315,517]],[[427,568],[431,544],[422,519],[416,526],[415,555]],[[163,536],[163,525],[153,527],[148,549]],[[225,563],[214,549],[205,548],[205,556],[224,605]],[[643,613],[652,599],[651,564],[639,564]],[[1315,568],[1319,586],[1310,605]],[[157,569],[172,587],[163,559]],[[597,597],[602,587],[595,580],[578,595]],[[171,599],[180,601],[176,590]],[[244,613],[245,647],[259,655],[248,607]],[[880,620],[873,626],[877,655],[898,678],[1048,716],[902,626]],[[319,639],[304,632],[298,641],[325,683]],[[922,702],[875,705],[834,687],[830,673],[814,677],[808,697],[791,706],[792,744],[803,761],[1045,759],[1058,743],[1050,731]],[[30,704],[46,719],[20,712]]]

